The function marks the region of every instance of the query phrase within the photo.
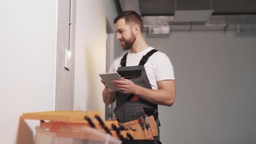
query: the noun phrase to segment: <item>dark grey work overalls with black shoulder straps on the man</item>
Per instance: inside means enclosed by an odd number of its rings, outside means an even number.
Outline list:
[[[157,50],[153,49],[144,55],[137,66],[126,67],[126,57],[128,52],[121,59],[121,67],[117,72],[121,77],[131,80],[136,85],[141,87],[152,89],[147,73],[144,68],[144,64],[148,61],[148,58],[153,55]],[[138,119],[139,117],[154,116],[154,119],[158,127],[159,139],[159,120],[158,120],[158,105],[150,103],[144,99],[139,98],[134,94],[124,94],[120,91],[116,92],[116,106],[114,113],[117,116],[117,120],[120,123],[126,123]]]

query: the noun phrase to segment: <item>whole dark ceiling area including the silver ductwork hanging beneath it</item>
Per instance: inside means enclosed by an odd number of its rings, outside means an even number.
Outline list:
[[[115,0],[115,2],[119,13],[134,10],[140,14],[143,30],[151,35],[168,35],[170,31],[201,30],[235,31],[237,35],[256,35],[256,0]],[[174,11],[176,11],[175,15]],[[184,21],[176,20],[181,11],[185,12]],[[193,21],[205,13],[203,11],[211,11],[208,18],[203,21]],[[191,15],[192,13],[196,15]]]

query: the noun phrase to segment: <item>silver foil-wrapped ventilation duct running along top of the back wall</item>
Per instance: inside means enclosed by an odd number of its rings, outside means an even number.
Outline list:
[[[256,15],[213,15],[206,22],[176,22],[173,16],[143,16],[144,31],[154,35],[149,28],[169,27],[169,31],[235,31],[237,35],[254,35]],[[162,33],[161,33],[162,32]],[[157,35],[167,31],[158,31]]]

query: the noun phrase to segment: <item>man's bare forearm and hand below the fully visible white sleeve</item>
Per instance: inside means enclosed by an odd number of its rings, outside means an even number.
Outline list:
[[[135,94],[153,104],[172,106],[175,100],[175,80],[158,81],[159,89],[144,88],[127,79],[115,80],[114,85],[120,92]]]

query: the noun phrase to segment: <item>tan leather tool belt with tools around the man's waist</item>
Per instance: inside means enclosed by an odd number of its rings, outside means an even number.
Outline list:
[[[147,117],[147,116],[146,116]],[[146,120],[146,117],[144,120]],[[125,130],[130,131],[135,140],[153,140],[155,136],[158,136],[158,128],[153,116],[148,117],[147,121],[135,119],[126,123],[119,123]]]

